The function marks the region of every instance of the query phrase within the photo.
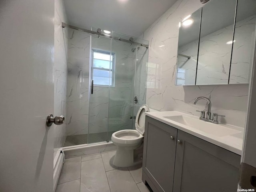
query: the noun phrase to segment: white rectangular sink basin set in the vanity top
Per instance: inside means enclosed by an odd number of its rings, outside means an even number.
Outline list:
[[[194,129],[197,129],[197,130],[200,130],[205,133],[212,134],[212,135],[218,136],[218,137],[232,135],[232,134],[241,132],[236,129],[222,126],[221,124],[205,122],[203,120],[199,120],[199,118],[196,119],[196,118],[191,118],[191,117],[183,116],[183,115],[164,116],[164,118],[178,122],[178,123],[186,125],[186,126],[190,126],[191,128],[194,128]]]

